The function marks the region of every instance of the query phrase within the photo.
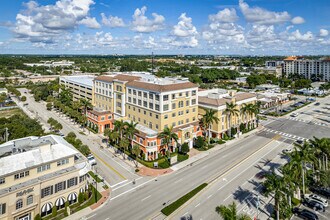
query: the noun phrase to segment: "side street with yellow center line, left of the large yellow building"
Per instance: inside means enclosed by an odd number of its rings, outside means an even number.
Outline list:
[[[111,185],[119,185],[132,179],[138,178],[134,173],[134,168],[129,166],[127,163],[119,159],[119,155],[114,155],[110,153],[107,149],[102,149],[101,138],[95,134],[84,135],[81,132],[79,125],[74,124],[67,118],[64,114],[55,111],[47,111],[45,102],[35,102],[31,94],[28,93],[27,89],[19,89],[22,94],[26,93],[28,106],[22,107],[22,103],[18,103],[25,112],[28,110],[29,116],[37,118],[43,127],[49,128],[47,120],[52,117],[63,126],[61,132],[63,134],[68,134],[69,132],[74,132],[84,144],[88,145],[92,150],[98,162],[96,168],[97,172],[105,178],[105,180]],[[18,102],[17,99],[14,101]],[[31,114],[31,112],[33,112]],[[117,157],[118,156],[118,157]],[[149,178],[144,178],[147,181]]]

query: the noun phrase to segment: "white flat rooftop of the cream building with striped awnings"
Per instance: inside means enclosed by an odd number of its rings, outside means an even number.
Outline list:
[[[0,176],[78,154],[71,144],[57,135],[8,141],[0,145]]]

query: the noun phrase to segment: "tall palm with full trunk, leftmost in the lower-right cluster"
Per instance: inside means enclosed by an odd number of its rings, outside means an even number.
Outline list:
[[[274,171],[272,173],[266,175],[266,180],[263,182],[263,186],[265,187],[265,195],[268,197],[271,193],[274,193],[275,199],[275,210],[276,210],[276,219],[280,218],[280,200],[283,196],[284,189],[284,181],[283,177],[275,174]]]

